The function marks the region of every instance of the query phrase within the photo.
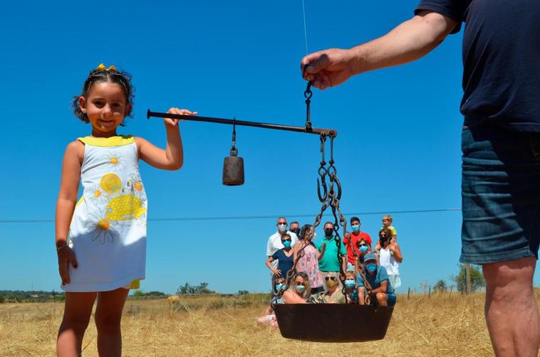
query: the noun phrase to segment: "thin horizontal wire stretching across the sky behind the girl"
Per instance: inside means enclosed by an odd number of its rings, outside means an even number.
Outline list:
[[[403,213],[431,213],[431,212],[448,212],[448,211],[461,211],[460,207],[456,208],[437,208],[431,210],[413,210],[413,211],[377,211],[377,212],[353,212],[353,213],[343,213],[343,215],[381,215],[381,214],[403,214]],[[152,221],[160,222],[172,222],[180,220],[254,220],[254,219],[264,219],[264,218],[276,218],[283,213],[276,215],[232,215],[232,216],[222,216],[222,217],[170,217],[170,218],[148,218]],[[284,215],[289,218],[308,218],[314,217],[315,213],[309,214],[289,214]],[[328,213],[327,215],[331,215]],[[327,216],[324,215],[324,216]],[[54,220],[0,220],[0,223],[53,223]]]

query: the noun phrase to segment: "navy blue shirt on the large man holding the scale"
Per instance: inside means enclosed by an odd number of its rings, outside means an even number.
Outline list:
[[[431,10],[465,23],[465,125],[487,120],[521,132],[540,132],[540,1],[421,0]]]

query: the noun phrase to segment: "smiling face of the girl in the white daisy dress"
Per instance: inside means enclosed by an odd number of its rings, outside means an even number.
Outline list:
[[[80,97],[81,110],[88,115],[94,137],[116,135],[116,128],[130,114],[123,88],[113,82],[97,82],[87,97]]]

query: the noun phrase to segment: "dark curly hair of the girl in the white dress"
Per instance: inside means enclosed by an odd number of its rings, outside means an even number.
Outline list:
[[[86,113],[83,113],[81,110],[81,103],[79,102],[79,97],[88,97],[88,93],[90,92],[90,89],[92,88],[95,83],[99,82],[111,82],[116,83],[122,87],[124,94],[125,94],[125,100],[126,104],[133,105],[133,99],[135,98],[135,87],[131,84],[131,75],[125,71],[119,71],[115,69],[100,69],[95,68],[93,70],[90,70],[90,73],[88,74],[88,78],[84,81],[83,85],[83,92],[80,95],[76,95],[73,97],[72,105],[73,105],[73,113],[75,113],[75,116],[81,119],[83,122],[88,123],[88,115]],[[133,117],[133,110],[128,114],[128,117]],[[122,124],[123,125],[123,122]]]

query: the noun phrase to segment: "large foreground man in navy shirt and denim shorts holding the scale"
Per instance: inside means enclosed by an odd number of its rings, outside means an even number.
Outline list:
[[[497,356],[536,356],[540,346],[532,286],[540,241],[539,18],[540,1],[422,0],[385,36],[301,62],[305,78],[324,90],[421,58],[466,23],[460,260],[482,265]]]

